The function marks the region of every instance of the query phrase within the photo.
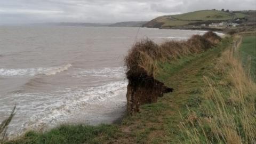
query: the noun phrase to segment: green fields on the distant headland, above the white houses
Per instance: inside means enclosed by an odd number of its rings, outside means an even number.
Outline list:
[[[151,20],[144,25],[145,27],[175,27],[186,26],[191,23],[228,21],[236,18],[245,18],[247,15],[237,12],[226,12],[218,10],[203,10],[177,15],[165,15]]]

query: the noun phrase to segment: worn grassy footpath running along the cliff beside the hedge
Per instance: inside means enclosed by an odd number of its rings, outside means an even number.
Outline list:
[[[201,94],[203,75],[214,65],[221,49],[230,42],[223,42],[219,48],[191,60],[174,74],[163,79],[174,92],[165,94],[157,103],[141,106],[141,112],[124,119],[116,139],[107,143],[178,143],[182,140],[179,123],[181,115],[188,113],[188,107],[197,107]]]

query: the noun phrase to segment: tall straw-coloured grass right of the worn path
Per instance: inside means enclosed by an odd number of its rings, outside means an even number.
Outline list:
[[[191,101],[199,106],[187,105],[189,113],[182,115],[183,143],[255,143],[255,83],[230,51],[210,71],[202,96]]]

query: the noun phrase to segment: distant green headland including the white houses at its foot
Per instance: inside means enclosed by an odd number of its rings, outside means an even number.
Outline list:
[[[201,10],[185,14],[163,15],[143,27],[160,29],[204,29],[230,31],[255,26],[255,11],[231,11],[225,9]]]

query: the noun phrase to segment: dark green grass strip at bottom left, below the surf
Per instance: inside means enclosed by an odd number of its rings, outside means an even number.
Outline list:
[[[35,143],[35,144],[73,144],[73,143],[102,143],[114,137],[118,131],[115,125],[61,125],[50,131],[27,132],[23,137],[5,143]]]

